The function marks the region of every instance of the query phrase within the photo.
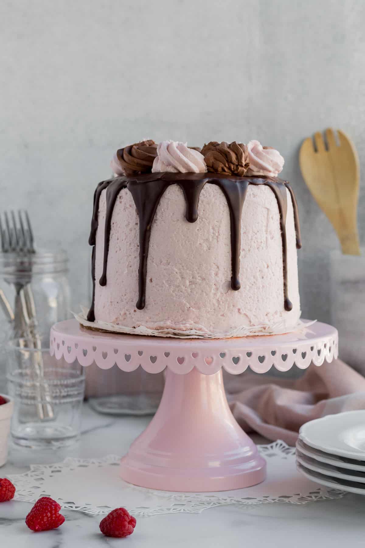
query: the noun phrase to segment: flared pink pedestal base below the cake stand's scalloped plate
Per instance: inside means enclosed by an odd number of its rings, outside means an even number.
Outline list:
[[[151,489],[222,491],[262,482],[266,463],[229,409],[222,370],[167,369],[157,413],[121,459],[120,475]]]

